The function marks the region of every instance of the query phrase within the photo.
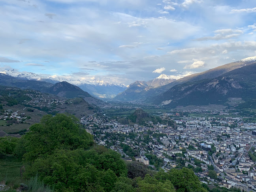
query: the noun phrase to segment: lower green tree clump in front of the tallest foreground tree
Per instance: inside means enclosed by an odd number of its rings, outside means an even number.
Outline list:
[[[112,152],[117,155],[114,156]],[[113,158],[117,164],[110,160],[101,165],[94,159],[103,156],[105,156],[105,160]],[[120,166],[122,166],[122,171],[119,170]],[[37,158],[31,167],[26,169],[25,176],[38,175],[41,181],[59,192],[66,189],[74,192],[110,192],[115,187],[117,175],[126,176],[127,169],[125,168],[126,165],[120,159],[119,154],[106,148],[97,149],[97,151],[94,149],[89,151],[60,149],[51,155]]]

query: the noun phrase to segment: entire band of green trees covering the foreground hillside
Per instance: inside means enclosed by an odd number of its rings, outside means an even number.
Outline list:
[[[129,177],[119,153],[96,145],[78,119],[63,114],[45,115],[20,139],[0,138],[0,158],[6,156],[24,165],[21,175],[28,184],[23,184],[26,191],[207,192],[207,186],[187,168]],[[43,189],[36,190],[36,185]]]

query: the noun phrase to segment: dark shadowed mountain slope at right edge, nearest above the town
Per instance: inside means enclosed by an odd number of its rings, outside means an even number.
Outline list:
[[[216,78],[176,85],[156,97],[153,103],[176,107],[178,105],[223,105],[230,98],[242,98],[245,101],[255,99],[256,57],[246,58],[232,64],[240,67]]]

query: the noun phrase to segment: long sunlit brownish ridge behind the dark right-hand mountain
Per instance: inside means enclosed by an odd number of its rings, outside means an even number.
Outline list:
[[[191,74],[183,78],[179,78],[176,81],[173,81],[171,83],[168,83],[160,87],[146,87],[140,92],[134,93],[133,97],[131,96],[127,97],[125,94],[123,94],[124,93],[123,92],[117,95],[114,99],[121,100],[121,101],[151,103],[151,102],[154,102],[154,100],[156,100],[155,98],[158,97],[158,95],[163,94],[164,92],[168,91],[170,88],[174,87],[175,85],[181,85],[183,83],[200,81],[203,79],[212,79],[220,75],[223,75],[224,73],[235,70],[237,68],[246,66],[247,64],[253,63],[255,61],[256,61],[256,57],[248,57],[236,62],[232,62],[229,64],[225,64],[225,65],[207,70],[205,72]]]

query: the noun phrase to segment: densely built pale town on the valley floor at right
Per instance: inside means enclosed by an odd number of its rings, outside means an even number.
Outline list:
[[[254,118],[227,111],[197,111],[207,117],[171,112],[157,113],[160,119],[172,120],[171,125],[127,125],[94,115],[81,118],[81,123],[98,144],[119,152],[126,161],[165,171],[187,167],[205,184],[256,189],[256,123],[249,122]]]

